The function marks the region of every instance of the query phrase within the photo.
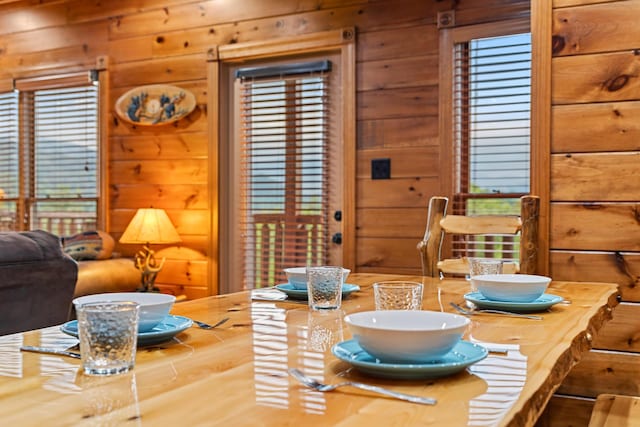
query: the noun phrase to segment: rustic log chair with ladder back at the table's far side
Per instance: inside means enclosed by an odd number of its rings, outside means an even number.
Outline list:
[[[499,258],[505,261],[504,273],[535,274],[538,262],[538,215],[540,198],[520,198],[518,215],[447,215],[449,200],[432,197],[429,201],[427,226],[417,248],[424,276],[463,276],[469,272],[467,257]],[[442,243],[446,235],[453,236],[464,256],[442,259]],[[479,238],[483,236],[482,238]],[[520,239],[517,257],[504,250]],[[479,252],[478,248],[482,247]]]

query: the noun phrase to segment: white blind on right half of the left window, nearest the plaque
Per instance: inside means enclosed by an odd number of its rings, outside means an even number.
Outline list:
[[[60,234],[95,228],[98,89],[37,90],[32,99],[32,226]]]

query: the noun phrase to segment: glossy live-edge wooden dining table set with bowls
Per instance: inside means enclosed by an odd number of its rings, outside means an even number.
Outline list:
[[[0,424],[136,426],[527,426],[591,347],[611,317],[618,287],[551,282],[562,297],[542,320],[474,314],[463,339],[488,356],[442,378],[380,378],[365,374],[331,349],[351,338],[344,316],[374,307],[372,284],[424,284],[423,309],[455,312],[469,282],[422,276],[351,274],[359,286],[333,312],[304,301],[270,300],[280,291],[243,291],[176,303],[171,314],[208,323],[137,350],[128,373],[88,376],[65,356],[21,352],[20,346],[73,347],[58,326],[0,337]],[[254,298],[260,298],[253,299]],[[423,405],[344,387],[320,392],[297,382],[297,368],[326,383],[358,381],[429,396]]]

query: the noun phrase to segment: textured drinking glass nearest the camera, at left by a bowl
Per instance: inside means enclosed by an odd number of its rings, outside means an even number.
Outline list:
[[[84,373],[112,375],[132,369],[136,360],[140,305],[96,302],[76,306]]]

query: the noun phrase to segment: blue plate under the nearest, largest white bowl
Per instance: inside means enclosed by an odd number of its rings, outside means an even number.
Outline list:
[[[452,375],[479,362],[489,354],[483,346],[468,341],[460,341],[449,353],[425,363],[383,363],[364,351],[356,340],[339,342],[333,346],[331,352],[338,359],[350,363],[365,374],[401,380]]]

